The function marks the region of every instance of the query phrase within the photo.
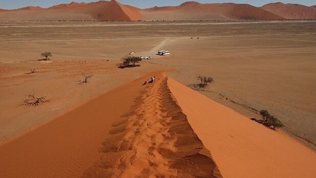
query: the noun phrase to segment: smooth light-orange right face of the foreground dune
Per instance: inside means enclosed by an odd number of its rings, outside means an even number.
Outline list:
[[[308,148],[170,78],[168,86],[223,177],[316,175],[316,154]]]

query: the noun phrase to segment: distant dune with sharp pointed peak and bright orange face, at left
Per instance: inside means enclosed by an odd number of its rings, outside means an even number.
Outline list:
[[[0,18],[5,21],[138,21],[144,19],[138,8],[122,5],[115,0],[94,3],[72,2],[47,9],[26,7],[4,11],[0,14]]]

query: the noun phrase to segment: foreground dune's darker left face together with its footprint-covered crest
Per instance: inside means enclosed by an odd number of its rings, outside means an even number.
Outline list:
[[[152,75],[157,82],[142,86]],[[94,177],[221,177],[162,72],[19,137],[0,147],[0,157],[1,177],[78,177],[83,172]]]

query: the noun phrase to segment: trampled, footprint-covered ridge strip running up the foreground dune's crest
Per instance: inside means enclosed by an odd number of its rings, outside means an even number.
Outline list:
[[[173,99],[167,77],[145,86],[110,133],[104,156],[84,177],[221,177]]]

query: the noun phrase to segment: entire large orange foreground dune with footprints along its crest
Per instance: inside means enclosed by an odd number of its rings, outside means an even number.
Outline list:
[[[150,76],[157,81],[142,86]],[[316,154],[151,73],[0,147],[0,177],[313,177]]]

